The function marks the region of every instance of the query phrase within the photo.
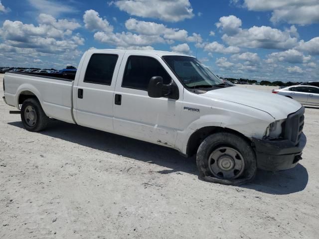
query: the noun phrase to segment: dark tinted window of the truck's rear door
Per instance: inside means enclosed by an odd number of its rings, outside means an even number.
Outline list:
[[[110,86],[118,55],[93,54],[85,72],[84,82]]]

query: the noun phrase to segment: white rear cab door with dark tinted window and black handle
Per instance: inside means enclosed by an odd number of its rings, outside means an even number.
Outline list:
[[[73,91],[78,124],[113,132],[113,95],[123,55],[121,51],[87,53]]]

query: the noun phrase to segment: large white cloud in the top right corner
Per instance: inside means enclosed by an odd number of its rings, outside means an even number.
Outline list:
[[[272,11],[273,22],[319,23],[318,0],[245,0],[245,6],[254,11]]]

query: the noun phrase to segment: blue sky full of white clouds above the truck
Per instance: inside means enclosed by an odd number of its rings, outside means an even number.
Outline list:
[[[319,80],[319,0],[0,0],[0,66],[77,66],[91,47],[195,56],[196,45],[223,77]]]

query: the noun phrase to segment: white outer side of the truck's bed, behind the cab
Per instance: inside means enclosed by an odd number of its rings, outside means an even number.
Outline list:
[[[74,123],[73,83],[72,79],[8,72],[4,75],[5,101],[8,105],[19,109],[19,97],[33,93],[48,117]]]

